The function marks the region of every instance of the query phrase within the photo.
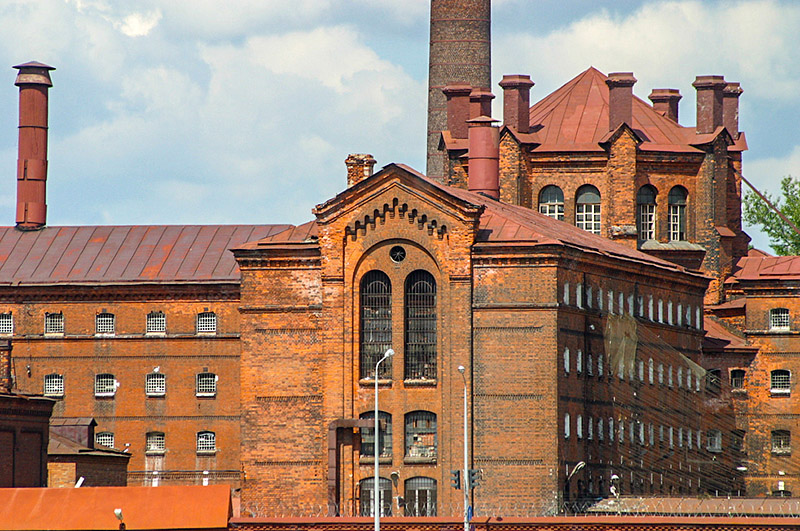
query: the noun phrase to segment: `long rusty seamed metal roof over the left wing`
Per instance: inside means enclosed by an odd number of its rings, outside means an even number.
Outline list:
[[[291,225],[0,227],[0,285],[238,281],[228,252]]]

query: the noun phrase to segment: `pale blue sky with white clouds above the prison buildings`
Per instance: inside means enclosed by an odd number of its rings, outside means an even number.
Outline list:
[[[301,223],[343,189],[348,153],[424,171],[427,17],[428,0],[6,0],[0,224],[12,65],[57,68],[49,224]],[[492,17],[495,85],[529,74],[535,101],[589,66],[633,71],[641,98],[680,89],[693,125],[692,81],[721,74],[744,89],[745,176],[800,176],[800,4],[495,0]]]

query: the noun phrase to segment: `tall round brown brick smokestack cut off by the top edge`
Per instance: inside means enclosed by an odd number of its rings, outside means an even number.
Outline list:
[[[447,128],[446,85],[489,90],[492,79],[490,0],[431,0],[428,63],[427,175],[442,180],[447,154],[439,135]]]

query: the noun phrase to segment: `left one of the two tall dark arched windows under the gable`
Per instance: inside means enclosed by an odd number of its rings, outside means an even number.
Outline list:
[[[375,377],[375,364],[392,347],[392,283],[382,271],[361,279],[361,374]],[[379,378],[392,377],[392,358],[379,368]]]

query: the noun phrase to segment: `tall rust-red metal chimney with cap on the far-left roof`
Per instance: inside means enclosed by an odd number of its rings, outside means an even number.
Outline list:
[[[17,228],[37,230],[47,222],[47,92],[52,66],[17,65],[19,87],[19,157],[17,159]]]

